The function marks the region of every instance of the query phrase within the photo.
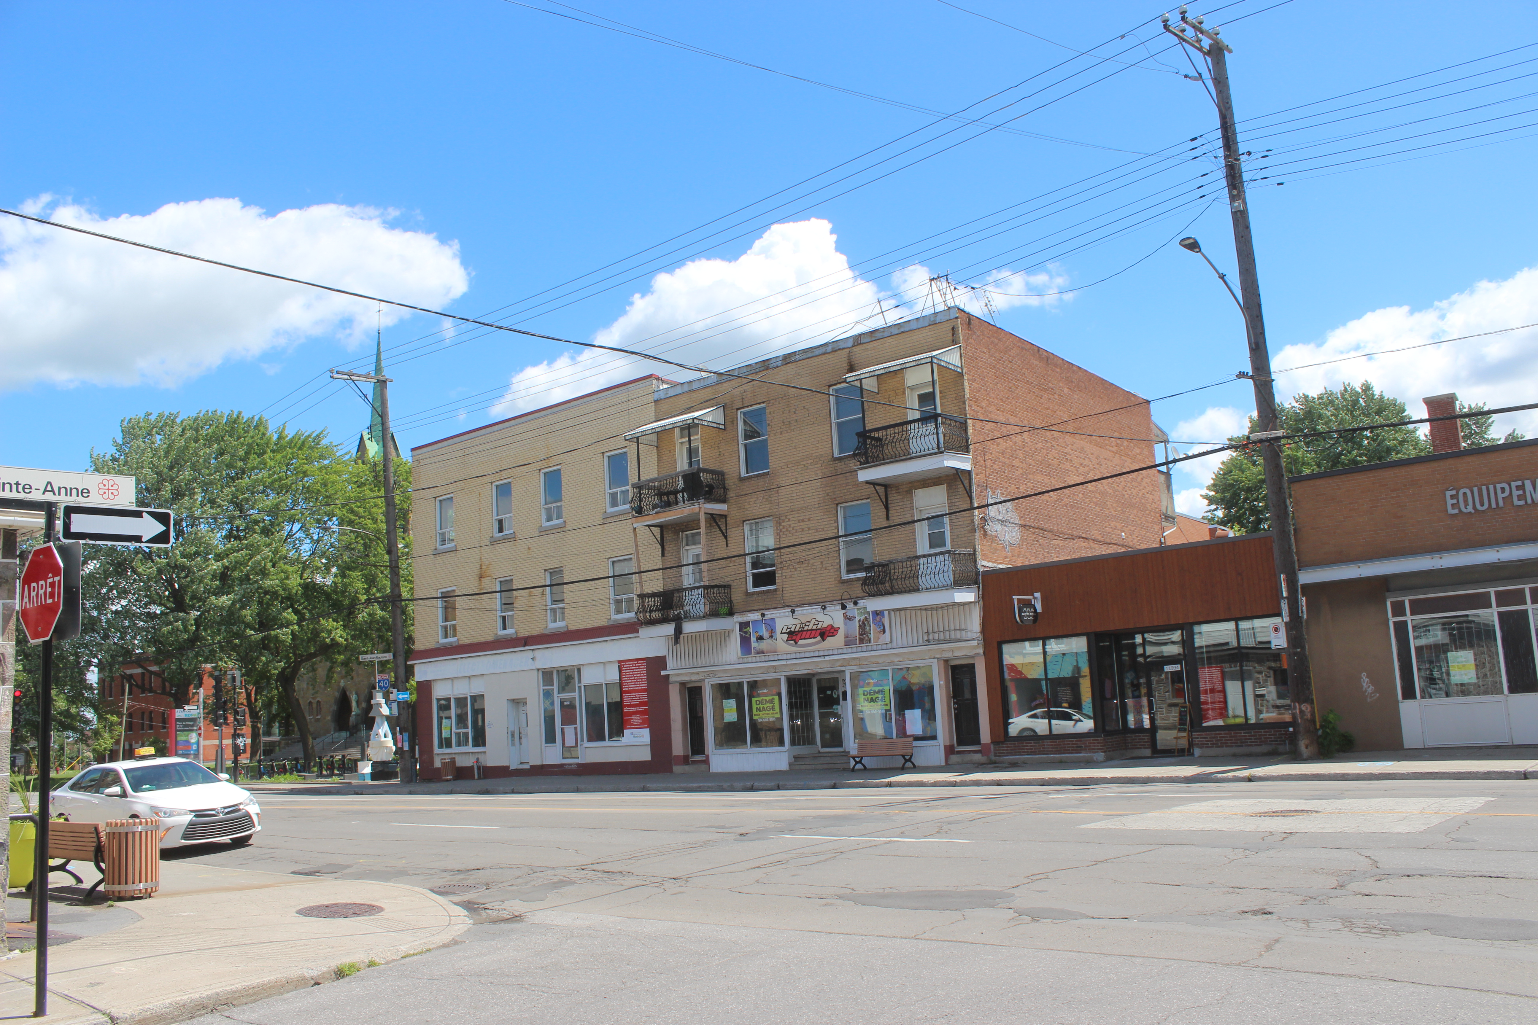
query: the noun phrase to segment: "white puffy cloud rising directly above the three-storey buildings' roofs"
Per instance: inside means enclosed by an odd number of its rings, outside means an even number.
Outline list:
[[[694,260],[658,274],[624,313],[594,335],[694,366],[738,366],[881,323],[886,294],[860,278],[824,220],[775,224],[737,260]],[[884,298],[887,317],[894,303]],[[687,370],[591,349],[564,352],[512,375],[492,416],[558,403],[649,372]]]

